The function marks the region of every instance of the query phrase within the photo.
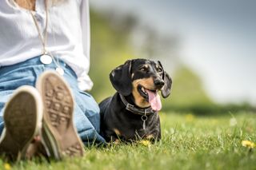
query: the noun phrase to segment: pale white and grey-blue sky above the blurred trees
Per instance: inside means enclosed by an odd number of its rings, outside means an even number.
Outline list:
[[[218,102],[256,105],[256,1],[93,0],[98,9],[137,14],[165,34],[182,38],[181,56]]]

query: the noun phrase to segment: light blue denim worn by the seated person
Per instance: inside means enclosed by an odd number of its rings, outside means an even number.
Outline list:
[[[64,69],[64,78],[74,95],[74,125],[79,136],[84,144],[105,143],[105,140],[99,135],[100,115],[98,104],[89,93],[78,89],[77,76],[70,66],[63,61],[59,61],[59,65]],[[16,65],[0,67],[0,134],[4,128],[2,108],[14,93],[14,90],[21,85],[35,86],[42,72],[55,68],[54,62],[50,65],[44,65],[39,57],[31,58]]]

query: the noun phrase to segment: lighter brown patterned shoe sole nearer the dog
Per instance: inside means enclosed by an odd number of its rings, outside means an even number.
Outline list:
[[[66,81],[54,71],[46,71],[36,85],[42,96],[42,142],[55,159],[83,156],[82,140],[73,124],[74,99]]]

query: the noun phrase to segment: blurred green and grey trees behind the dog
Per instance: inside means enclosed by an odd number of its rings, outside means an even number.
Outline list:
[[[222,113],[251,109],[250,105],[217,105],[202,88],[198,75],[178,61],[179,38],[162,35],[150,26],[142,26],[132,14],[90,10],[91,67],[94,88],[90,91],[100,102],[115,93],[110,84],[112,69],[133,58],[162,61],[173,79],[172,93],[162,99],[164,111]]]

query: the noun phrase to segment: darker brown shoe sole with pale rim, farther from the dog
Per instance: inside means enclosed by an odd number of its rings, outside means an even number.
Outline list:
[[[34,87],[18,88],[3,110],[5,128],[0,153],[10,160],[26,158],[26,148],[42,125],[42,98]]]

